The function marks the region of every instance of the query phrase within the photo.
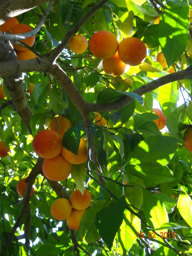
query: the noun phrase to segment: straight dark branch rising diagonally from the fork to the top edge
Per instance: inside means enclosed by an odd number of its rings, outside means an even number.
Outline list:
[[[62,42],[58,45],[57,48],[53,50],[52,55],[49,57],[49,60],[54,62],[58,56],[61,54],[62,50],[65,48],[65,46],[68,44],[68,42],[71,40],[71,38],[79,31],[79,29],[95,14],[100,8],[102,8],[109,0],[102,0],[93,8],[85,14],[85,16],[80,19],[77,24],[67,33],[67,35],[63,38]]]

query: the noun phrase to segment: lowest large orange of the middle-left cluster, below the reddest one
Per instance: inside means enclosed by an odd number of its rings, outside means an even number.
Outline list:
[[[53,181],[65,180],[72,171],[72,164],[68,163],[61,154],[53,158],[45,158],[42,165],[45,177]]]

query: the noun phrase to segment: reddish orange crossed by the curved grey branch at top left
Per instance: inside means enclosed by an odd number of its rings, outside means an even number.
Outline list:
[[[22,33],[30,32],[31,30],[32,30],[32,28],[26,24],[17,24],[16,26],[13,27],[11,33],[12,34],[22,34]],[[35,35],[25,38],[24,40],[21,40],[21,41],[26,43],[29,46],[33,46],[33,44],[35,42]],[[27,50],[26,48],[16,45],[16,44],[13,44],[13,48],[18,51],[26,51]]]

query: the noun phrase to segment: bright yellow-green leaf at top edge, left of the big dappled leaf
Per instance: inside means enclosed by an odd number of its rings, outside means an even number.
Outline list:
[[[126,4],[129,11],[132,10],[134,12],[134,15],[145,21],[151,22],[156,17],[153,13],[150,13],[143,7],[134,4],[131,0],[126,0]]]

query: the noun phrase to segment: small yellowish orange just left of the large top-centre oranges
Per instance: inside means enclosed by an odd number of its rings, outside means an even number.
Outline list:
[[[87,50],[88,42],[87,39],[82,35],[75,35],[69,41],[69,48],[76,54],[84,53]]]

